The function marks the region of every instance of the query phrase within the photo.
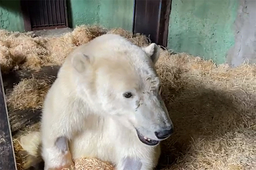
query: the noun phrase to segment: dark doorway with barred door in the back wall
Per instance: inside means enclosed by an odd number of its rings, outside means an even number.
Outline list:
[[[68,27],[66,0],[21,0],[25,31]]]

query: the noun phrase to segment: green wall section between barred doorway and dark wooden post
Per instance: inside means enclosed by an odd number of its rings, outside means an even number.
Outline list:
[[[134,0],[69,0],[70,24],[99,24],[132,31]]]

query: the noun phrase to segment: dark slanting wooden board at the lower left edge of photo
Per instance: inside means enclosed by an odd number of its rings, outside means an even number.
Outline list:
[[[1,71],[0,71],[0,170],[17,170]]]

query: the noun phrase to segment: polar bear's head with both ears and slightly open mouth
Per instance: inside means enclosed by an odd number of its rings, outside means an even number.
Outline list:
[[[71,59],[80,98],[151,146],[173,133],[155,68],[159,52],[155,43],[140,48],[119,35],[105,34],[79,46]]]

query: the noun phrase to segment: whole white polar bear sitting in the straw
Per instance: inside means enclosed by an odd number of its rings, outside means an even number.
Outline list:
[[[159,94],[159,51],[155,43],[140,48],[117,34],[76,48],[46,95],[40,132],[23,136],[22,147],[31,154],[40,147],[44,170],[70,168],[81,157],[116,170],[153,170],[159,142],[173,133]]]

